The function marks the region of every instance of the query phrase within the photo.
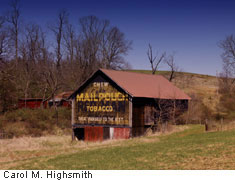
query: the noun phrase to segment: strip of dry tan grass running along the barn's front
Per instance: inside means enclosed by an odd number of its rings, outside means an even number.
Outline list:
[[[9,169],[19,163],[30,161],[34,158],[48,158],[60,154],[71,154],[79,150],[94,150],[118,146],[132,146],[141,143],[157,142],[157,136],[165,136],[174,132],[183,131],[187,126],[171,127],[171,131],[154,133],[144,137],[129,140],[106,140],[102,142],[71,141],[71,136],[44,136],[21,137],[0,140],[0,167]]]

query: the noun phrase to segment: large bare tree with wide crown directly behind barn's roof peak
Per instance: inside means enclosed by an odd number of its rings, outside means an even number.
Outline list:
[[[67,82],[81,83],[101,67],[130,67],[123,55],[130,50],[131,42],[117,27],[111,27],[108,20],[86,16],[79,19],[78,28],[80,31],[75,31],[72,25],[67,25],[64,34],[66,57],[70,61],[63,63],[66,66],[63,75]]]

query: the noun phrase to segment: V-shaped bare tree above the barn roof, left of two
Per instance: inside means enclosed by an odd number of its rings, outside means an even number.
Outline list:
[[[158,55],[154,56],[153,55],[153,50],[152,50],[152,46],[151,44],[149,44],[148,46],[148,51],[147,51],[147,56],[152,68],[152,74],[155,74],[160,63],[164,60],[164,58],[166,57],[166,53],[162,53],[159,57]]]

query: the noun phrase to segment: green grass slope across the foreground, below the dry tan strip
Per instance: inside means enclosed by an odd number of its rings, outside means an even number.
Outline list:
[[[206,133],[200,125],[169,135],[76,148],[14,162],[11,169],[235,169],[235,130]]]

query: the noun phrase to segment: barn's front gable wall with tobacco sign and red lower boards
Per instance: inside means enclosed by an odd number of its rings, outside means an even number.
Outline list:
[[[122,89],[98,75],[73,99],[72,126],[74,130],[84,128],[85,141],[127,139],[131,136],[132,126],[130,101]]]

